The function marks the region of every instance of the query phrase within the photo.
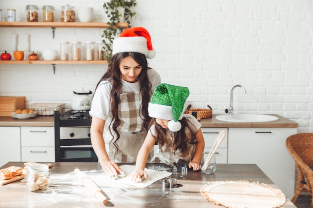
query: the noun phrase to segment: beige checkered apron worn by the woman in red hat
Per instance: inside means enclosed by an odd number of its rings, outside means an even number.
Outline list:
[[[146,136],[143,121],[139,116],[141,100],[140,92],[120,94],[118,107],[120,119],[118,132],[120,137],[116,142],[118,150],[113,145],[113,142],[110,143],[112,135],[109,132],[106,132],[104,137],[106,152],[111,161],[116,163],[134,163],[136,161],[137,154]],[[105,124],[109,124],[109,122],[107,120]],[[114,138],[116,138],[113,131],[112,133]],[[150,153],[149,159],[151,156],[153,156],[153,151]]]

